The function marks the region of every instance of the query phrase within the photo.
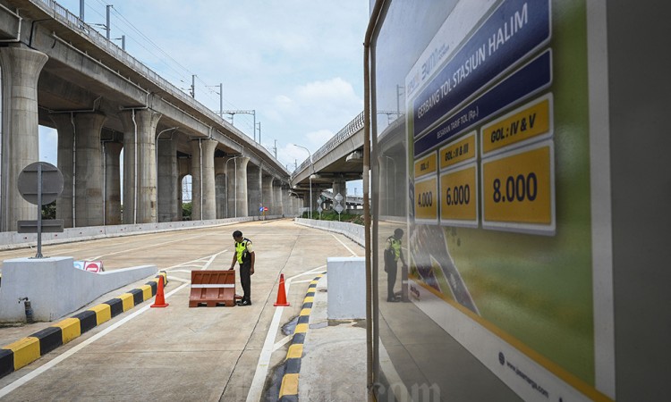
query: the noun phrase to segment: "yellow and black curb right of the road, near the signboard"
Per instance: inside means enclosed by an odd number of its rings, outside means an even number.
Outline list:
[[[303,344],[305,343],[305,335],[308,333],[310,312],[315,300],[317,282],[326,274],[327,272],[321,272],[315,279],[310,281],[308,292],[305,294],[305,298],[303,298],[301,314],[298,315],[298,322],[296,322],[296,328],[293,330],[292,343],[289,346],[289,350],[286,351],[285,375],[282,377],[282,385],[279,392],[280,402],[298,401],[298,376],[301,373]]]

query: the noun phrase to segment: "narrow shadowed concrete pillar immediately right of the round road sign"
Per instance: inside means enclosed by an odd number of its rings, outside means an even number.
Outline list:
[[[51,114],[58,130],[58,170],[63,174],[63,191],[56,198],[56,218],[63,219],[65,228],[72,228],[72,202],[74,188],[74,116],[72,113]]]

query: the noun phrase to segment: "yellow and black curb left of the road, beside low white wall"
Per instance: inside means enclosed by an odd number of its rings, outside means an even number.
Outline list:
[[[0,378],[19,370],[55,348],[78,338],[82,333],[154,297],[161,277],[163,277],[165,286],[167,284],[167,273],[165,271],[158,272],[154,279],[140,286],[140,288],[129,290],[119,295],[119,297],[74,314],[72,317],[56,322],[42,331],[37,331],[26,338],[0,348]]]

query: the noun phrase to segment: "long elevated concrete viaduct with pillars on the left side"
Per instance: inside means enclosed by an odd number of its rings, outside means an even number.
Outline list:
[[[58,131],[65,227],[181,220],[187,174],[194,220],[300,206],[264,147],[52,1],[0,0],[0,68],[0,231],[37,214],[16,183],[38,124]]]

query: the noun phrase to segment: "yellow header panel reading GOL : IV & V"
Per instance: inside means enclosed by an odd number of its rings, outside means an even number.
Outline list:
[[[552,94],[492,121],[481,130],[482,155],[523,141],[552,135]]]

